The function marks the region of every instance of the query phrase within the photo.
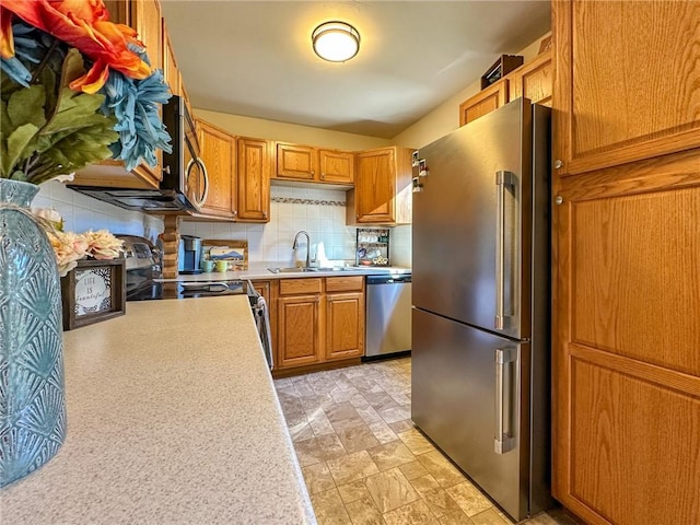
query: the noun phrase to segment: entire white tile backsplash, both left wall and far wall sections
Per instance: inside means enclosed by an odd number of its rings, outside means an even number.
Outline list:
[[[345,191],[272,186],[270,194],[272,202],[267,224],[183,221],[180,233],[247,241],[252,262],[293,265],[295,259],[306,257],[305,237],[300,237],[299,249],[292,249],[294,235],[305,230],[311,236],[312,257],[320,257],[323,262],[325,255],[328,260],[354,264],[357,228],[346,225]],[[151,241],[163,231],[163,221],[158,217],[124,210],[68,189],[56,180],[40,185],[32,206],[58,211],[67,231],[107,229]],[[392,265],[410,266],[411,226],[392,228],[389,248]]]

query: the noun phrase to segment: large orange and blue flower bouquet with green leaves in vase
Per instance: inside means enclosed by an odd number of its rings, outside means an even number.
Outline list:
[[[0,178],[40,184],[104,159],[156,164],[170,98],[136,32],[103,0],[2,0]]]

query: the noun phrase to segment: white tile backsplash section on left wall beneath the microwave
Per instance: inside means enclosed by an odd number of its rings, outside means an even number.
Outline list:
[[[163,221],[138,211],[128,211],[86,195],[68,189],[62,183],[49,180],[39,186],[33,208],[52,208],[63,218],[65,231],[109,230],[112,233],[140,235],[155,241],[163,231]]]

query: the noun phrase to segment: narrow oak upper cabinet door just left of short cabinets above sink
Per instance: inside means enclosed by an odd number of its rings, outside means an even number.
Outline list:
[[[241,222],[270,220],[270,153],[269,142],[260,139],[238,139],[238,214]]]

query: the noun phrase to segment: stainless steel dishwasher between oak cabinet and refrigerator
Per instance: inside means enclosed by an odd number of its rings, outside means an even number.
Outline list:
[[[411,275],[369,276],[365,355],[411,349]]]

